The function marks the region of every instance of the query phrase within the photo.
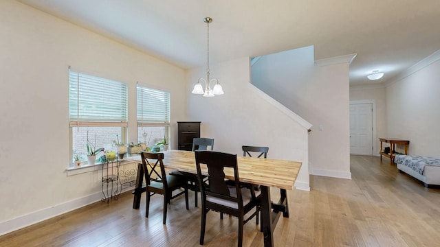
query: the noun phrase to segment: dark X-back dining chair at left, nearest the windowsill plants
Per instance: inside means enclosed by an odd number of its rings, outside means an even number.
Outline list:
[[[170,200],[185,194],[186,210],[188,210],[188,183],[186,179],[180,176],[174,176],[165,173],[164,154],[163,153],[140,153],[142,158],[142,168],[144,169],[144,176],[146,181],[146,209],[145,217],[148,217],[150,207],[150,197],[154,194],[164,196],[164,220],[166,223],[166,211]],[[159,171],[158,171],[159,169]],[[173,196],[173,191],[183,188],[184,191],[179,191]]]

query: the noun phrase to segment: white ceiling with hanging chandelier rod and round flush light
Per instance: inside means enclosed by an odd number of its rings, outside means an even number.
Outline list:
[[[184,69],[309,45],[358,54],[350,85],[384,84],[440,49],[439,0],[17,0]],[[369,81],[373,70],[385,73]]]

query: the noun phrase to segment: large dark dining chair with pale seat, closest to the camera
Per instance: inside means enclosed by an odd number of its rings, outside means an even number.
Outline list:
[[[196,151],[195,162],[201,192],[200,244],[203,245],[205,239],[207,213],[212,210],[239,218],[238,246],[242,246],[243,225],[252,217],[259,215],[260,192],[255,192],[253,187],[240,186],[236,154]],[[208,170],[208,174],[201,173],[202,166]],[[225,182],[225,169],[233,170],[234,185],[228,185]],[[203,180],[203,176],[207,179]],[[254,213],[245,219],[245,215],[252,209],[255,209]]]

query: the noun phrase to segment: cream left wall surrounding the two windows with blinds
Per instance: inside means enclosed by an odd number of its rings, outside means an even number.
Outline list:
[[[0,1],[0,37],[0,234],[100,200],[100,172],[66,175],[69,65],[129,84],[129,141],[137,81],[169,91],[171,121],[186,119],[178,67],[17,1]]]

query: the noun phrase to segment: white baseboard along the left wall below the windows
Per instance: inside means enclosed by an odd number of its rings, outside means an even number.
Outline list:
[[[126,188],[122,191],[122,193],[130,190],[133,190],[133,188]],[[61,204],[48,207],[46,209],[41,209],[33,213],[28,213],[27,215],[15,217],[11,220],[5,220],[4,222],[0,222],[0,236],[5,235],[6,233],[17,231],[26,226],[42,222],[43,220],[48,220],[63,213],[79,209],[80,207],[87,206],[88,204],[99,202],[101,198],[102,191],[98,191],[89,196],[84,196],[83,198],[78,198],[69,202],[63,202]]]

